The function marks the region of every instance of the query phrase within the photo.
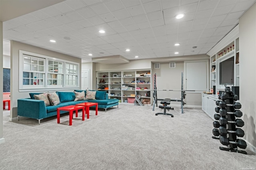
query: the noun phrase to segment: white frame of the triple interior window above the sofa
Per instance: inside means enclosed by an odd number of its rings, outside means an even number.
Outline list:
[[[34,85],[34,86],[33,85],[23,85],[23,71],[27,72],[26,70],[24,70],[24,55],[28,55],[29,57],[34,57],[34,58],[45,59],[44,60],[44,72],[40,72],[40,73],[44,73],[44,85]],[[48,61],[49,60],[58,61],[58,62],[63,63],[62,85],[60,85],[60,86],[59,85],[48,85],[48,79],[47,79],[48,73],[53,73],[53,72],[48,71],[48,68],[49,68]],[[66,75],[68,75],[68,74],[66,74],[66,63],[77,66],[76,85],[72,85],[72,86],[66,85]],[[28,71],[28,72],[32,72],[32,71]],[[28,52],[28,51],[19,50],[19,91],[20,92],[79,89],[79,85],[80,85],[79,77],[80,77],[80,63],[76,63],[73,61],[67,61],[67,60],[63,60],[63,59],[57,59],[55,57],[50,57],[50,56],[32,53],[32,52]]]

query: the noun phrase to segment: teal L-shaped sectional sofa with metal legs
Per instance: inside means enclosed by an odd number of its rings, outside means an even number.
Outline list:
[[[81,90],[75,90],[81,92]],[[86,91],[85,91],[86,92]],[[64,107],[68,105],[76,105],[78,103],[84,102],[92,102],[98,103],[98,108],[105,109],[105,112],[108,108],[117,106],[118,107],[118,99],[108,99],[108,93],[106,91],[96,91],[95,100],[81,100],[81,101],[74,101],[75,94],[74,92],[56,92],[60,99],[60,104],[56,106],[45,106],[44,101],[36,100],[34,95],[38,95],[40,93],[29,93],[30,98],[26,99],[18,99],[18,120],[19,117],[29,117],[32,119],[37,119],[40,125],[40,120],[52,117],[57,115],[57,108]],[[95,107],[95,106],[93,106]],[[60,111],[60,114],[66,113],[67,111]]]

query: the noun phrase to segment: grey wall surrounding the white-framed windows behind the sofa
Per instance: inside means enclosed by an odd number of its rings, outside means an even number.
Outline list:
[[[70,55],[65,55],[62,53],[57,53],[54,51],[50,51],[47,49],[42,49],[40,47],[35,47],[32,45],[16,42],[16,41],[11,41],[11,60],[10,60],[10,65],[11,65],[11,85],[10,85],[10,91],[11,91],[11,111],[10,111],[10,121],[16,120],[17,119],[17,99],[22,99],[22,98],[28,98],[30,92],[19,92],[19,86],[18,86],[18,73],[19,73],[19,50],[24,50],[24,51],[29,51],[32,53],[37,53],[41,55],[46,55],[50,57],[56,57],[59,59],[64,59],[67,61],[73,61],[80,63],[80,71],[81,71],[81,59],[72,57]],[[80,82],[81,82],[81,77]],[[81,83],[79,85],[81,87]],[[45,92],[45,91],[38,91],[38,93]]]

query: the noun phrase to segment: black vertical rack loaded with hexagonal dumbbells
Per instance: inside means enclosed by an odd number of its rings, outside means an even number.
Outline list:
[[[242,112],[238,110],[242,105],[236,102],[238,96],[233,94],[230,87],[225,87],[225,92],[219,94],[218,99],[220,100],[216,101],[216,114],[214,114],[214,119],[217,121],[213,122],[212,138],[219,139],[221,144],[228,147],[220,146],[220,150],[247,154],[244,150],[238,150],[238,147],[242,149],[247,147],[244,140],[237,138],[244,136],[244,130],[238,128],[244,126],[244,121],[236,119],[242,117]]]

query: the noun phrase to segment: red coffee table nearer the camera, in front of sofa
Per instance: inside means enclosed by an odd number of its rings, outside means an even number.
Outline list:
[[[72,125],[73,111],[76,111],[76,117],[78,117],[78,110],[82,109],[82,121],[84,121],[84,106],[70,105],[57,108],[57,123],[60,123],[60,111],[69,111],[69,125]]]

